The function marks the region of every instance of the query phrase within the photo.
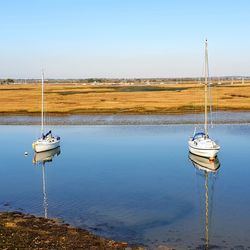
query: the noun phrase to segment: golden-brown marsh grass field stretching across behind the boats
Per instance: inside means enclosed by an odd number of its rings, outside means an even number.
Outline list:
[[[213,85],[213,110],[250,111],[250,82]],[[45,111],[67,114],[184,114],[202,112],[204,86],[45,84]],[[0,85],[0,113],[39,115],[41,84]]]

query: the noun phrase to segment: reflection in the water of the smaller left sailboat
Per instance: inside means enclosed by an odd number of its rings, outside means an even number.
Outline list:
[[[55,155],[60,154],[60,147],[44,151],[40,153],[35,153],[33,157],[33,164],[34,165],[42,165],[42,172],[43,172],[43,207],[44,207],[44,217],[48,218],[48,199],[47,199],[47,192],[46,192],[46,176],[45,176],[45,164],[47,162],[52,162],[52,159]]]

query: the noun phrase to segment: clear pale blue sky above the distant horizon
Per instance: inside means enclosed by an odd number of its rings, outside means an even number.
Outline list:
[[[0,78],[250,75],[249,0],[0,0]]]

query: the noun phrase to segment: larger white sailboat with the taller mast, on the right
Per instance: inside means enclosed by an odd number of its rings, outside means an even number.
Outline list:
[[[207,112],[207,102],[208,102],[208,49],[207,40],[205,41],[205,121],[204,121],[204,131],[194,132],[194,135],[189,138],[188,146],[189,151],[195,155],[199,155],[207,158],[215,158],[220,150],[220,146],[208,136],[208,112]]]

